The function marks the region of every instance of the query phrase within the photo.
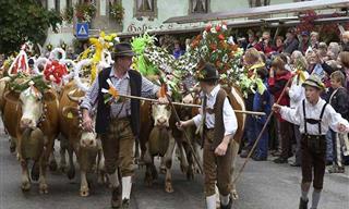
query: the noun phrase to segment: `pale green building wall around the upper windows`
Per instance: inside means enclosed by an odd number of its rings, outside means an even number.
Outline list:
[[[73,5],[79,0],[73,0]],[[119,32],[119,33],[137,33],[145,32],[147,29],[173,29],[173,28],[192,28],[205,25],[206,23],[193,23],[193,24],[164,24],[163,22],[172,16],[181,16],[189,14],[190,0],[156,0],[157,1],[157,17],[148,20],[143,17],[137,20],[134,16],[135,0],[121,0],[124,8],[124,21],[120,26],[112,22],[108,17],[109,1],[112,0],[94,0],[97,5],[96,19],[93,21],[92,27],[95,34],[98,34],[98,29],[106,32]],[[270,0],[270,4],[288,3],[293,0]],[[60,0],[60,10],[65,9],[65,0]],[[55,9],[55,0],[47,0],[48,9]],[[249,8],[249,0],[210,0],[209,12],[222,12],[234,9]],[[71,45],[74,39],[73,24],[64,23],[60,27],[60,33],[55,34],[51,30],[48,34],[46,44],[53,46],[60,45],[64,41]]]

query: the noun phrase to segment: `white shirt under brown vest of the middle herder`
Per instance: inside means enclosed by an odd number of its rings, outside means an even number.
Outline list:
[[[219,89],[220,89],[220,86],[217,85],[208,95],[206,95],[207,108],[214,109],[214,106],[216,102],[216,97],[217,97]],[[203,118],[203,111],[201,108],[200,114],[197,114],[196,116],[193,118],[196,126],[201,125],[202,118]],[[222,121],[224,121],[225,130],[226,130],[225,136],[233,135],[238,130],[238,121],[237,121],[236,113],[234,113],[228,98],[225,99],[225,103],[222,107]],[[207,111],[206,111],[206,126],[207,126],[207,128],[215,127],[215,114],[214,113],[209,114]]]

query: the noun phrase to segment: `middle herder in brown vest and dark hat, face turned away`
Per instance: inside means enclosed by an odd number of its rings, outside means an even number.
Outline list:
[[[227,98],[227,93],[218,85],[218,71],[213,64],[205,64],[198,77],[203,90],[201,114],[177,124],[179,128],[203,125],[204,175],[207,209],[216,209],[215,185],[220,195],[220,208],[231,208],[231,161],[236,144],[232,137],[238,128],[237,118]]]

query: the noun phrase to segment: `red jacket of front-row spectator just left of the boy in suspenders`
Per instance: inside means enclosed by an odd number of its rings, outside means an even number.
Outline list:
[[[292,74],[289,71],[287,71],[284,74],[276,75],[275,77],[269,77],[268,90],[274,96],[275,102],[279,99],[279,97],[285,88],[285,85],[291,78],[292,78]],[[281,97],[281,99],[279,101],[279,104],[280,106],[290,106],[290,98],[289,98],[288,94],[286,94],[286,93],[284,94],[284,96]],[[277,116],[280,121],[284,121],[279,114],[277,114]]]

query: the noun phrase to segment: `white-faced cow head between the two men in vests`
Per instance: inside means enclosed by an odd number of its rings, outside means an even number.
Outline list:
[[[168,104],[153,104],[152,116],[154,119],[154,126],[168,127],[171,116],[171,109]]]

